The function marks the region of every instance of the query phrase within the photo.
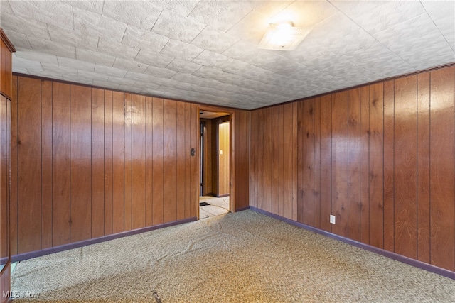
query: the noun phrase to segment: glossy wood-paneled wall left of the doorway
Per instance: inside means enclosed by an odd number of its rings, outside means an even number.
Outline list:
[[[14,255],[196,216],[197,104],[13,83]]]

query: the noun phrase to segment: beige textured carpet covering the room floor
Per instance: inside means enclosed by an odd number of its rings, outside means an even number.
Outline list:
[[[26,260],[12,289],[45,302],[455,302],[455,280],[255,211]]]

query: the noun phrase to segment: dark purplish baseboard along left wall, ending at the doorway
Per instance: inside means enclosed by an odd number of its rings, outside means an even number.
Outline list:
[[[144,228],[138,228],[138,229],[134,229],[132,231],[123,231],[122,233],[114,233],[112,235],[102,236],[100,238],[93,238],[93,239],[88,239],[88,240],[84,240],[84,241],[78,241],[75,243],[68,243],[68,244],[64,244],[64,245],[60,245],[60,246],[55,246],[55,247],[51,247],[51,248],[35,250],[35,251],[31,251],[30,253],[21,253],[19,255],[13,255],[13,257],[11,258],[11,261],[18,262],[18,261],[28,260],[31,258],[41,257],[42,255],[49,255],[50,253],[58,253],[63,250],[80,248],[82,246],[89,246],[92,244],[101,243],[101,242],[105,242],[105,241],[109,241],[109,240],[114,240],[117,238],[123,238],[126,236],[136,235],[137,233],[144,233],[146,231],[154,231],[155,229],[160,229],[160,228],[165,228],[168,226],[174,226],[174,225],[178,225],[178,224],[193,222],[196,220],[197,220],[196,216],[194,216],[194,217],[188,218],[188,219],[172,221],[172,222],[158,224],[158,225],[154,225],[154,226],[148,226],[148,227],[144,227]]]

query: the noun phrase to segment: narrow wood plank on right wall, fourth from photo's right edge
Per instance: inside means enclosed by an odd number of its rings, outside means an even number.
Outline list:
[[[395,251],[395,81],[384,83],[384,249]]]

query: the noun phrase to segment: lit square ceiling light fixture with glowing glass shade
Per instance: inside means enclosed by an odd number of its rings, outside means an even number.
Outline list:
[[[295,50],[311,28],[296,28],[291,21],[269,23],[257,48],[264,50]]]

